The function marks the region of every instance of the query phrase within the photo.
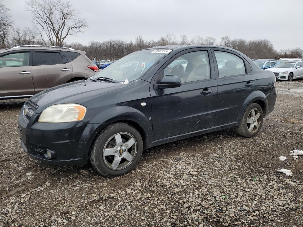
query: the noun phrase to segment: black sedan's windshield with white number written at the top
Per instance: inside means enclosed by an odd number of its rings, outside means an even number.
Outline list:
[[[119,82],[124,82],[126,79],[135,81],[170,51],[149,49],[133,52],[98,72],[93,78],[108,77]]]

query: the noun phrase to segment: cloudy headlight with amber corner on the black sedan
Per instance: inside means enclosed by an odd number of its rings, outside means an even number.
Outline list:
[[[42,111],[38,122],[63,123],[80,121],[84,118],[86,107],[79,104],[57,104]]]

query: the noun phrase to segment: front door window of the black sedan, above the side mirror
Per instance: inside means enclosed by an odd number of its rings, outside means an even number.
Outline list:
[[[182,83],[209,79],[208,52],[195,51],[181,55],[164,69],[164,75],[178,76]]]

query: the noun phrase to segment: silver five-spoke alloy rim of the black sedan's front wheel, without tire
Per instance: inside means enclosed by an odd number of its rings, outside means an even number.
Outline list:
[[[113,170],[129,166],[137,153],[135,137],[126,132],[113,135],[103,148],[103,160],[106,166]]]

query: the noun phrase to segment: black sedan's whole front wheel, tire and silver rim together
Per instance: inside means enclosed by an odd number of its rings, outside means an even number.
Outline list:
[[[134,127],[122,122],[114,123],[98,134],[89,160],[102,175],[121,176],[137,166],[142,150],[142,137]]]

